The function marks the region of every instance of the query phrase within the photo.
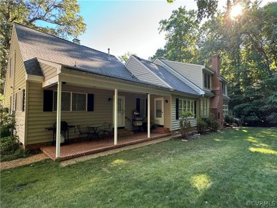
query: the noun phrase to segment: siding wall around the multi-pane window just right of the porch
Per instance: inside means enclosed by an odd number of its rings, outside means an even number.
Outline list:
[[[188,99],[188,100],[193,100],[193,98],[188,98],[184,96],[172,96],[172,130],[179,130],[179,120],[176,120],[176,98],[179,99]],[[197,100],[194,100],[197,101]],[[196,115],[198,114],[198,102],[196,106]],[[196,126],[197,125],[197,118],[191,118],[190,119],[190,125],[191,126]]]

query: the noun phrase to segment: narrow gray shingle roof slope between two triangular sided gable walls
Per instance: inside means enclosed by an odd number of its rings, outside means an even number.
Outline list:
[[[170,73],[168,70],[164,69],[163,67],[159,66],[158,64],[154,64],[153,62],[150,62],[148,60],[143,60],[142,58],[139,58],[136,56],[136,58],[145,65],[145,67],[148,67],[150,71],[152,71],[154,74],[159,76],[162,80],[164,80],[168,85],[170,85],[173,89],[184,92],[187,94],[193,94],[193,95],[199,95],[198,92],[196,92],[194,89],[190,88],[188,85],[183,83],[179,78],[174,76],[172,73]]]

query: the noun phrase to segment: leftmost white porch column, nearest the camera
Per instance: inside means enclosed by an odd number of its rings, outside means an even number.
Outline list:
[[[62,82],[57,81],[57,127],[56,127],[56,158],[60,157],[60,131],[62,110]]]

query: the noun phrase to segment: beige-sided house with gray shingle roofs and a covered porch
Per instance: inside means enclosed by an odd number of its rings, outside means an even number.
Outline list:
[[[152,137],[150,127],[154,124],[169,131],[178,130],[179,113],[183,110],[193,112],[191,123],[196,125],[199,116],[208,116],[210,99],[211,112],[218,112],[222,122],[222,89],[218,85],[226,80],[218,75],[219,69],[218,73],[216,69],[202,69],[203,74],[209,74],[204,83],[215,87],[212,92],[199,82],[202,73],[195,74],[195,81],[193,76],[187,76],[190,71],[185,67],[175,66],[183,63],[170,63],[149,62],[132,55],[124,66],[109,52],[82,46],[76,39],[70,42],[14,24],[5,106],[15,114],[21,144],[37,148],[55,139],[56,158],[61,154],[61,134],[54,138],[53,131],[47,129],[57,123],[55,130],[60,132],[61,121],[72,126],[111,123],[115,146],[118,129],[137,129],[133,125],[134,110],[145,117],[145,138]],[[78,131],[69,130],[69,139],[78,137]]]

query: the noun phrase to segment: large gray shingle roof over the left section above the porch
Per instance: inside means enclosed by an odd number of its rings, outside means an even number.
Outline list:
[[[107,53],[74,44],[21,24],[15,24],[15,31],[26,65],[26,72],[29,74],[42,75],[42,71],[37,68],[37,63],[34,60],[41,58],[72,67],[76,64],[82,71],[90,73],[144,83],[132,76],[132,73],[114,55],[109,56]]]

